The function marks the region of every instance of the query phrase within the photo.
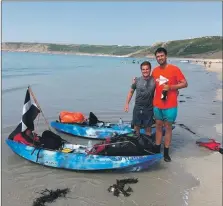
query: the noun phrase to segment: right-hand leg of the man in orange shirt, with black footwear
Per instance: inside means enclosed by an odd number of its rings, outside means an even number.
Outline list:
[[[170,162],[171,158],[169,156],[169,146],[172,140],[172,123],[164,122],[165,125],[165,139],[164,139],[164,160]]]

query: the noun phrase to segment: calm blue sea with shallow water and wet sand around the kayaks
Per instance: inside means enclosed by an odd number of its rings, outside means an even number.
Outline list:
[[[140,64],[144,60],[150,61],[153,68],[157,65],[153,58],[2,52],[2,205],[30,206],[42,190],[63,188],[70,188],[70,192],[52,205],[188,205],[193,188],[199,187],[200,182],[187,172],[184,160],[210,155],[210,151],[195,144],[198,138],[221,140],[215,128],[222,121],[222,102],[216,100],[221,82],[215,73],[202,66],[168,59],[181,68],[188,80],[188,88],[180,90],[176,122],[196,133],[176,125],[170,163],[161,160],[146,171],[134,173],[66,171],[28,162],[5,144],[21,121],[28,86],[49,123],[58,120],[61,111],[82,112],[86,117],[93,112],[103,121],[118,122],[119,118],[131,121],[135,95],[128,113],[124,112],[125,101],[132,78],[141,75]],[[43,115],[35,125],[40,134],[48,128]],[[73,143],[88,143],[86,139],[60,135]],[[108,192],[116,179],[130,177],[139,181],[131,185],[133,192],[129,197],[116,197]]]

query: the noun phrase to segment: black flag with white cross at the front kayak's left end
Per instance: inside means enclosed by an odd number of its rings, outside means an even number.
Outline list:
[[[24,132],[26,129],[30,129],[33,131],[34,120],[39,113],[40,110],[35,103],[31,102],[29,89],[27,89],[23,105],[22,120],[16,127],[16,129],[9,135],[9,139],[13,139],[16,134]]]

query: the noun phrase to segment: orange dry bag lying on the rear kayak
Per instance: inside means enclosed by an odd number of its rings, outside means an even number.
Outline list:
[[[85,117],[81,112],[62,111],[59,119],[62,123],[83,123],[85,121]]]

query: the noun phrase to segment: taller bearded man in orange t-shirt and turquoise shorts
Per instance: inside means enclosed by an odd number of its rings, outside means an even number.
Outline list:
[[[156,119],[156,153],[160,153],[162,128],[165,127],[164,160],[170,162],[169,146],[172,139],[172,124],[177,117],[178,90],[188,86],[182,71],[175,65],[167,63],[167,51],[158,48],[155,57],[159,64],[154,68],[152,76],[156,82],[153,100],[154,117]]]

